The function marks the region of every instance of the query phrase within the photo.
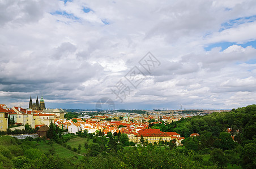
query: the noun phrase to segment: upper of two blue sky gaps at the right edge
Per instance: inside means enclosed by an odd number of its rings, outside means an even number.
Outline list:
[[[256,15],[248,16],[248,17],[238,17],[237,19],[231,19],[227,21],[227,23],[222,23],[221,28],[219,32],[229,29],[232,27],[236,27],[238,25],[244,24],[244,23],[251,23],[256,20]]]

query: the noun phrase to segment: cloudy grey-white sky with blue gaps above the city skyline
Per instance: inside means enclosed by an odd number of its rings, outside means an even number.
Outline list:
[[[0,1],[0,104],[255,104],[254,0]]]

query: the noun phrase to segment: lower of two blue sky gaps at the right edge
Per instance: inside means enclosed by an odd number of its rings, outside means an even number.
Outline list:
[[[210,51],[214,47],[221,47],[220,51],[224,51],[226,48],[228,48],[229,46],[232,46],[232,45],[239,45],[239,46],[242,46],[242,47],[252,46],[253,48],[256,48],[256,41],[250,41],[250,42],[247,42],[247,43],[244,43],[244,44],[239,44],[239,43],[234,43],[234,42],[212,43],[212,44],[208,45],[207,47],[204,47],[204,50]]]

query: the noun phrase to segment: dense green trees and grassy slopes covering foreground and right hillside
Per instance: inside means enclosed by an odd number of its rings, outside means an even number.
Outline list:
[[[183,146],[161,142],[129,146],[132,144],[125,134],[108,134],[108,139],[85,131],[76,136],[87,140],[84,145],[71,148],[67,136],[51,124],[50,141],[1,136],[0,168],[256,168],[255,113],[256,105],[249,105],[231,112],[151,124],[152,128],[184,136]],[[190,137],[193,133],[200,136]],[[41,144],[49,149],[42,151]],[[57,150],[54,145],[61,148]],[[64,150],[76,155],[67,158],[57,153]]]

